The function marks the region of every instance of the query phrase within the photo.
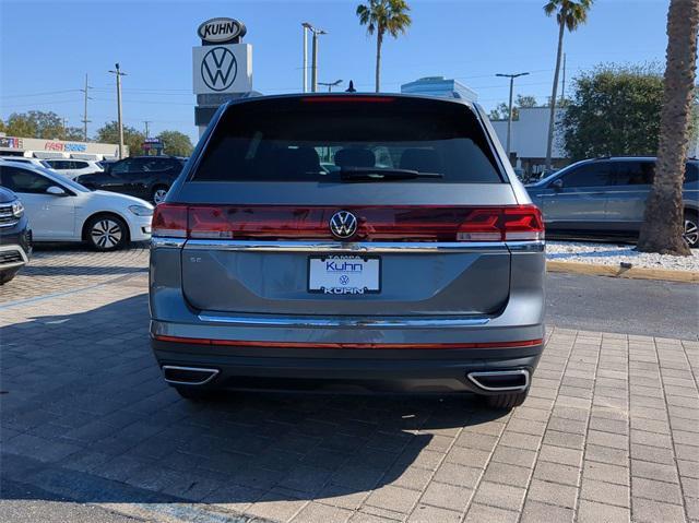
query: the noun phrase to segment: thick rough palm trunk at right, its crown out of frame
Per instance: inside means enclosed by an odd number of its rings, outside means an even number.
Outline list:
[[[640,251],[691,254],[682,237],[682,189],[697,75],[698,29],[699,0],[671,0],[657,159],[638,241]]]

